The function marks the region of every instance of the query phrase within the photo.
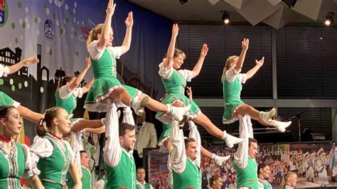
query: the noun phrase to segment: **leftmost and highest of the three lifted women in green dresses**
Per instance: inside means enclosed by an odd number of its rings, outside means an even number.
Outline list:
[[[190,107],[176,108],[161,104],[133,87],[122,85],[117,80],[116,58],[127,53],[130,48],[134,21],[132,12],[129,12],[125,20],[127,30],[122,46],[112,47],[113,31],[110,26],[115,6],[116,4],[109,0],[105,23],[93,28],[87,38],[87,50],[92,59],[95,81],[87,93],[85,108],[91,112],[107,112],[109,106],[106,102],[112,100],[117,104],[122,102],[122,104],[132,107],[138,115],[143,114],[144,107],[148,107],[156,112],[167,112],[178,121],[186,121],[187,116],[184,117],[184,115]]]

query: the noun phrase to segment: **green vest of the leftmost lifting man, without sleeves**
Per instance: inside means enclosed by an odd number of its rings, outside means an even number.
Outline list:
[[[136,166],[134,158],[127,156],[127,153],[122,150],[122,157],[118,165],[115,167],[108,166],[107,168],[107,184],[105,188],[120,188],[127,187],[134,189],[137,187],[136,182]]]

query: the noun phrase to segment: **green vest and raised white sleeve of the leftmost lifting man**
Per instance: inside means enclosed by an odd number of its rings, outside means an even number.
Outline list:
[[[105,167],[107,170],[107,183],[105,188],[129,189],[137,188],[136,166],[132,151],[126,151],[119,144],[119,121],[117,107],[109,104],[107,112],[107,125],[105,127],[105,147],[103,148]]]

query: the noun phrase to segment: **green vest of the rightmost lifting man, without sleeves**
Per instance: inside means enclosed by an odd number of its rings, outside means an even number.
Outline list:
[[[237,188],[250,187],[259,188],[257,183],[257,164],[255,159],[248,157],[247,166],[245,168],[239,168],[236,163],[232,163],[237,175]]]

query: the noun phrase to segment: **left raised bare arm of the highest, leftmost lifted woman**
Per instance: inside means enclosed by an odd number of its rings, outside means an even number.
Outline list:
[[[109,3],[107,4],[107,16],[105,17],[104,26],[102,29],[102,33],[100,34],[100,39],[97,43],[97,49],[103,50],[107,43],[109,43],[110,37],[111,37],[111,21],[112,21],[112,15],[114,14],[114,8],[116,7],[116,4],[114,4],[113,0],[109,0]]]

